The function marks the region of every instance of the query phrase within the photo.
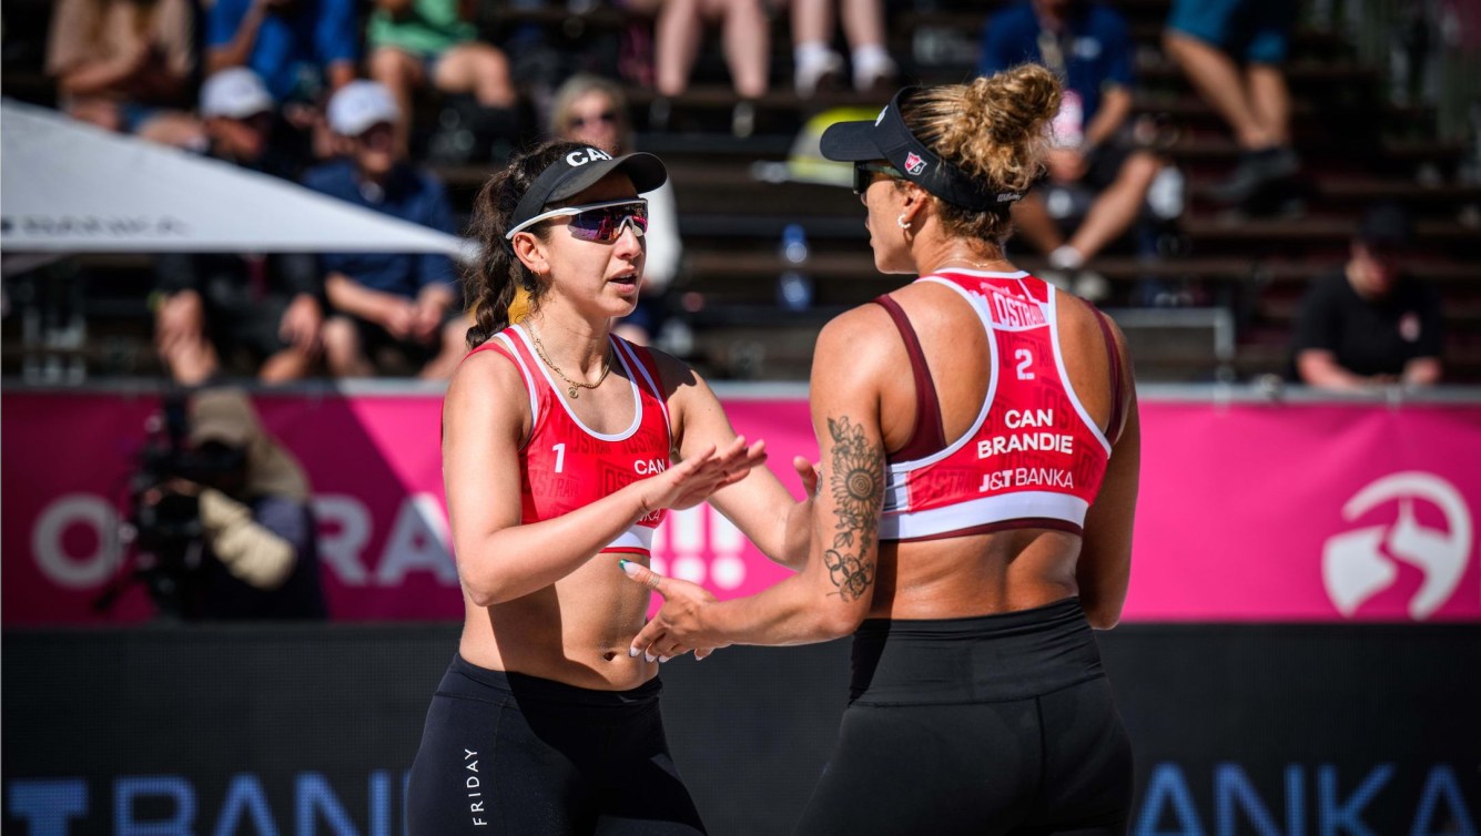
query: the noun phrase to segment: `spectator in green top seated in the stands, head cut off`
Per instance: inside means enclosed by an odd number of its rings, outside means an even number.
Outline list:
[[[478,111],[487,111],[471,115],[489,123],[490,132],[512,136],[518,120],[509,62],[501,50],[477,40],[469,12],[464,0],[375,0],[366,27],[370,77],[385,84],[409,115],[415,112],[412,93],[421,87],[471,93]],[[401,155],[410,149],[410,124],[412,118],[397,123]]]

